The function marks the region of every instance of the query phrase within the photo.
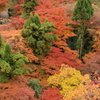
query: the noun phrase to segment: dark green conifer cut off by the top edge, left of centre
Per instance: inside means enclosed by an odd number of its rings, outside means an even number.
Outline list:
[[[39,5],[38,0],[24,0],[24,3],[22,5],[23,13],[21,17],[24,19],[28,18],[30,12],[34,11],[34,7],[38,5]]]

